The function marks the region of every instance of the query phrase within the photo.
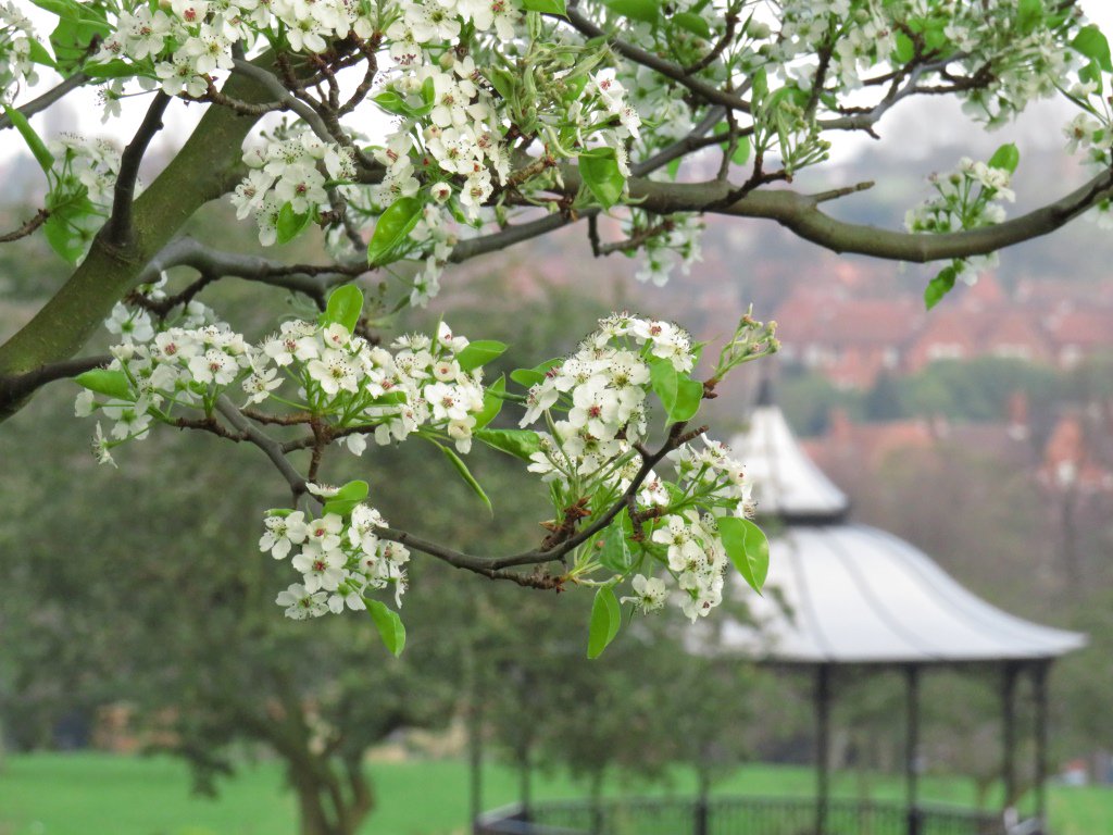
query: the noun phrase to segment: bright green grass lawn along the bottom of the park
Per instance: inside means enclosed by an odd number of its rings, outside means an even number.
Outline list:
[[[467,818],[467,772],[457,760],[370,766],[378,805],[363,832],[387,835],[463,833]],[[687,795],[695,782],[678,770],[669,785],[612,780],[608,794]],[[721,794],[807,796],[810,769],[758,765],[739,769],[716,787]],[[487,808],[515,797],[516,775],[495,765],[484,769]],[[875,799],[900,797],[889,777],[837,775],[837,794]],[[580,797],[584,788],[567,775],[538,775],[535,796]],[[969,804],[973,787],[959,778],[929,777],[925,799]],[[1113,833],[1113,790],[1051,789],[1055,835]],[[296,835],[294,797],[283,786],[277,763],[244,766],[210,800],[189,794],[185,766],[166,757],[106,754],[9,756],[0,772],[0,835]]]

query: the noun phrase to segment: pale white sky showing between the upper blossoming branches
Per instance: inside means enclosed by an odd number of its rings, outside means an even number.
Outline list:
[[[17,0],[18,6],[24,6]],[[1113,2],[1110,0],[1080,0],[1080,6],[1086,16],[1101,26],[1102,30],[1113,38]],[[30,7],[30,3],[26,3]],[[24,9],[35,20],[41,33],[49,31],[51,17],[38,8]],[[42,81],[36,88],[35,95],[48,89],[50,78],[48,71],[40,73]],[[23,96],[27,100],[33,96]],[[63,105],[56,105],[45,114],[32,119],[36,129],[46,138],[61,131],[75,131],[91,136],[105,136],[125,144],[138,128],[149,97],[138,97],[132,106],[125,102],[124,114],[110,120],[100,122],[100,107],[93,89],[82,89],[68,96]],[[176,101],[168,109],[164,119],[166,128],[156,137],[154,150],[171,150],[179,146],[193,126],[204,112],[204,106],[189,106]],[[982,128],[966,119],[958,110],[957,104],[948,99],[925,98],[903,102],[894,108],[881,120],[878,132],[883,137],[880,145],[876,140],[861,135],[839,135],[834,137],[836,159],[853,156],[861,150],[870,153],[898,153],[902,158],[915,159],[927,156],[933,148],[940,145],[952,145],[956,139],[971,146],[971,155],[983,153],[984,148],[996,147],[1004,141],[1016,141],[1022,150],[1035,147],[1062,147],[1064,140],[1060,127],[1070,118],[1071,111],[1064,102],[1040,102],[1026,112],[1016,124],[1009,125],[985,137]],[[368,126],[358,126],[373,130]],[[8,161],[13,155],[22,153],[22,140],[14,130],[0,131],[0,164]]]

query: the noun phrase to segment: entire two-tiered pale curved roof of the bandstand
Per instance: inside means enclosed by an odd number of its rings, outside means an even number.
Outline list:
[[[848,523],[846,495],[776,405],[759,405],[731,445],[772,536],[765,596],[747,596],[755,625],[725,623],[723,649],[787,664],[907,665],[1051,659],[1085,645],[987,603],[908,542]]]

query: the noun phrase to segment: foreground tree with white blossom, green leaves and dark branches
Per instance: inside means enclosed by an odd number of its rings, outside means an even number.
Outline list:
[[[615,313],[569,356],[516,346],[525,367],[508,382],[484,376],[505,345],[446,322],[382,335],[452,265],[583,222],[597,255],[633,254],[660,284],[698,257],[701,217],[718,214],[836,252],[938,262],[932,305],[1001,247],[1091,209],[1107,218],[1113,196],[1113,63],[1070,1],[32,1],[46,27],[21,7],[0,12],[2,125],[47,190],[3,239],[41,234],[73,272],[0,344],[0,414],[73,377],[101,461],[162,425],[254,445],[292,492],[262,529],[260,548],[298,580],[277,602],[294,618],[370,610],[395,652],[415,552],[521,586],[594,589],[592,656],[627,602],[677,601],[696,620],[720,602],[726,566],[755,588],[765,576],[741,462],[697,419],[728,373],[776,350],[771,324],[742,315],[700,380],[703,346],[681,326]],[[49,89],[37,84],[47,67],[61,76]],[[100,88],[109,119],[146,106],[122,153],[30,124],[82,86]],[[1005,219],[1018,164],[1006,143],[932,177],[903,230],[828,214],[868,183],[792,186],[834,136],[874,134],[898,102],[938,96],[989,127],[1065,97],[1077,108],[1066,141],[1092,178]],[[147,148],[184,102],[204,116],[140,189]],[[378,134],[361,134],[367,124]],[[179,236],[217,199],[260,244],[318,235],[327,257],[290,264],[280,249]],[[259,307],[285,293],[299,312],[250,340],[203,301],[227,276],[255,283]],[[371,299],[367,276],[382,281]],[[652,305],[647,291],[640,306]],[[83,355],[101,323],[119,344]],[[509,425],[495,422],[505,404]],[[390,527],[373,469],[324,484],[336,455],[406,440],[435,448],[484,503],[463,456],[522,459],[551,500],[548,533],[511,556],[467,553]]]

